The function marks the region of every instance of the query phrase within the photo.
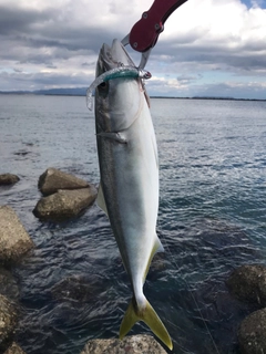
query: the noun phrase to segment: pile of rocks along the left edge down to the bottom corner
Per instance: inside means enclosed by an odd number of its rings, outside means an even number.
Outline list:
[[[13,343],[19,321],[19,289],[9,271],[34,247],[12,208],[0,206],[0,353],[23,351]]]

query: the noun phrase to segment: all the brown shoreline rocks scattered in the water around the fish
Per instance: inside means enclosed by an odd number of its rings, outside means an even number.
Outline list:
[[[19,183],[16,175],[0,175],[0,186],[12,187]],[[82,215],[95,201],[95,186],[55,168],[48,168],[39,178],[42,197],[32,210],[41,221],[61,222]],[[7,187],[6,187],[7,188]],[[1,190],[0,190],[1,191]],[[19,323],[19,287],[12,277],[12,269],[34,252],[34,243],[14,210],[0,205],[0,353],[27,354],[14,343]],[[95,280],[95,287],[98,282]],[[238,344],[243,354],[266,353],[266,267],[246,264],[235,269],[226,280],[232,301],[252,304],[250,312],[238,326]],[[88,284],[75,277],[62,280],[53,289],[53,296],[60,301],[65,294],[74,300],[88,299]],[[81,354],[102,353],[166,353],[151,335],[117,339],[98,339],[86,343]],[[30,353],[28,353],[30,354]]]

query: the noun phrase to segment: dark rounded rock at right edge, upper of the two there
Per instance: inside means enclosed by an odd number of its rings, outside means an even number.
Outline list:
[[[266,267],[242,266],[234,270],[226,282],[236,299],[266,306]]]

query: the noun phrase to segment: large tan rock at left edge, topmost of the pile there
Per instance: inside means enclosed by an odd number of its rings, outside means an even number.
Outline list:
[[[0,207],[0,264],[19,261],[33,246],[13,209]]]

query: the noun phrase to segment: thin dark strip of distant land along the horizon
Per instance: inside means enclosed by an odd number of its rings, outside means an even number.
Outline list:
[[[72,96],[72,97],[84,97],[84,94],[78,93],[45,93],[45,92],[4,92],[0,91],[0,95],[27,95],[27,96]],[[193,96],[193,97],[177,97],[177,96],[150,96],[151,98],[160,100],[215,100],[215,101],[255,101],[255,102],[266,102],[260,98],[235,98],[235,97],[212,97],[212,96]]]

